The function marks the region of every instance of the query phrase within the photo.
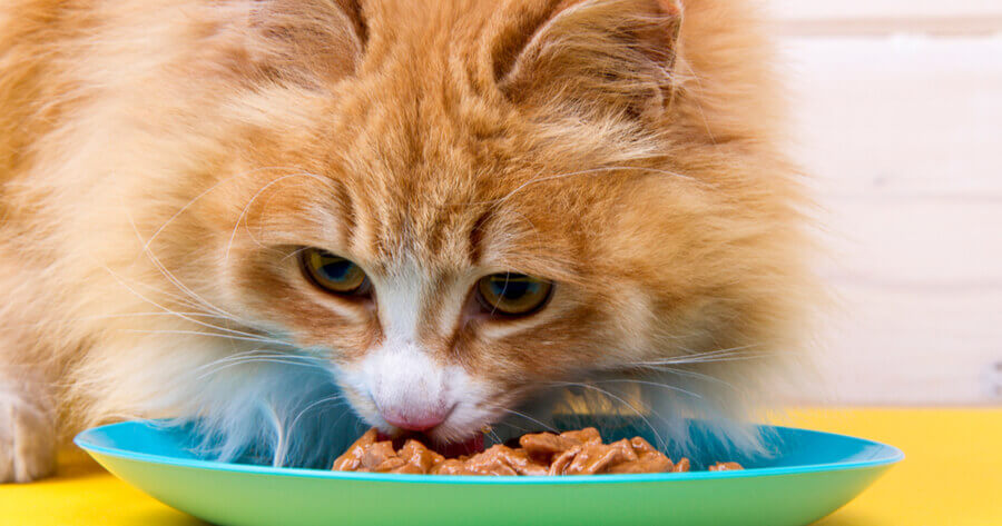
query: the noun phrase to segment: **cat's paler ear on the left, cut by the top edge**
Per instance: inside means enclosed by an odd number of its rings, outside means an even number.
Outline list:
[[[269,77],[314,83],[351,75],[367,29],[358,0],[249,0],[250,67]]]

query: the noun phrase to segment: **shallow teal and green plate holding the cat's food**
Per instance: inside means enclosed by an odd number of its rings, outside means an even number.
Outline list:
[[[155,498],[229,526],[806,525],[904,458],[843,435],[767,427],[778,454],[740,472],[563,477],[340,473],[197,458],[183,428],[96,427],[76,443]]]

